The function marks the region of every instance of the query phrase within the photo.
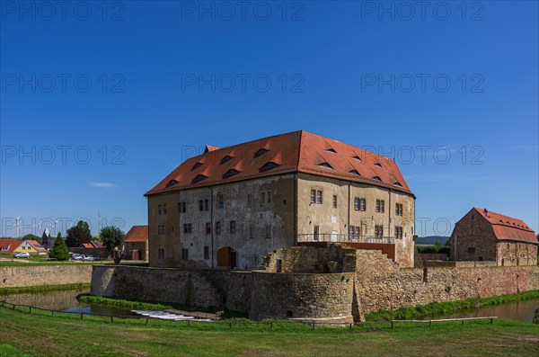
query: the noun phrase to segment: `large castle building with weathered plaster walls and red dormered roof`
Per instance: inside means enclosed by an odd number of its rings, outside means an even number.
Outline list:
[[[303,130],[207,146],[145,196],[152,267],[252,270],[330,242],[413,266],[415,196],[393,160]]]

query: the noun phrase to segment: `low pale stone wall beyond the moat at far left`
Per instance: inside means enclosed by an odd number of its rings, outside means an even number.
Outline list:
[[[89,283],[91,264],[0,266],[0,288]]]

